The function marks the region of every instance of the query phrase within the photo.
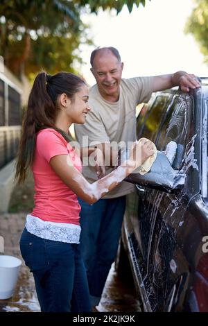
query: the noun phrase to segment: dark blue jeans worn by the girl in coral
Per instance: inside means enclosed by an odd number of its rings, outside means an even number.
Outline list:
[[[36,237],[26,228],[21,255],[33,273],[43,312],[91,311],[85,266],[79,245]]]

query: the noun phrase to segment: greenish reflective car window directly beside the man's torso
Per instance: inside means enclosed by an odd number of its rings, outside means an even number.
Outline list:
[[[164,118],[170,94],[156,95],[143,106],[137,118],[137,139],[146,137],[155,141],[158,128]]]

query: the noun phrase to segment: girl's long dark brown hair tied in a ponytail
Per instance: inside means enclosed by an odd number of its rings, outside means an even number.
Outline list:
[[[67,72],[60,72],[54,76],[41,72],[36,76],[22,124],[15,180],[24,182],[27,170],[33,164],[38,131],[54,128],[69,141],[68,135],[63,130],[55,128],[55,117],[60,110],[57,99],[60,94],[65,93],[73,100],[82,85],[85,85],[82,78]]]

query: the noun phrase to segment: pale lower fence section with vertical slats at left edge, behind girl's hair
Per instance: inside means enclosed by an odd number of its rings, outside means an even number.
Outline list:
[[[0,127],[0,169],[14,159],[21,136],[21,126]]]

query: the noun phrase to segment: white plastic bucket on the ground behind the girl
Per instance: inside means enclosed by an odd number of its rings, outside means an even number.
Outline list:
[[[0,300],[12,297],[20,266],[20,259],[0,255]]]

